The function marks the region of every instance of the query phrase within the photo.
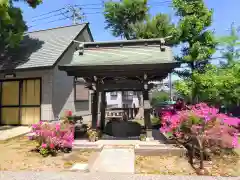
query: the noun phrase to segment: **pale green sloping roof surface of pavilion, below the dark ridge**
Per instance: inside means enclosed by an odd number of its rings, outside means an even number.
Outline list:
[[[71,65],[99,66],[99,65],[134,65],[159,64],[173,62],[170,47],[160,51],[159,46],[86,48],[83,55],[74,53]]]

